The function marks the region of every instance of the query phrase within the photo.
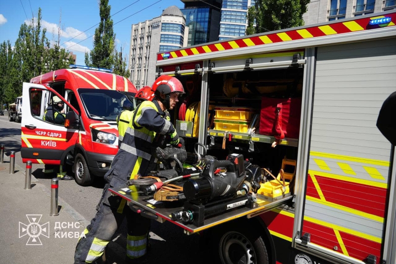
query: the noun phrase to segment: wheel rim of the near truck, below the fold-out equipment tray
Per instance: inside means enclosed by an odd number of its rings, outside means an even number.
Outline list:
[[[256,254],[251,242],[239,232],[231,231],[224,234],[219,247],[220,258],[223,263],[256,263]]]

